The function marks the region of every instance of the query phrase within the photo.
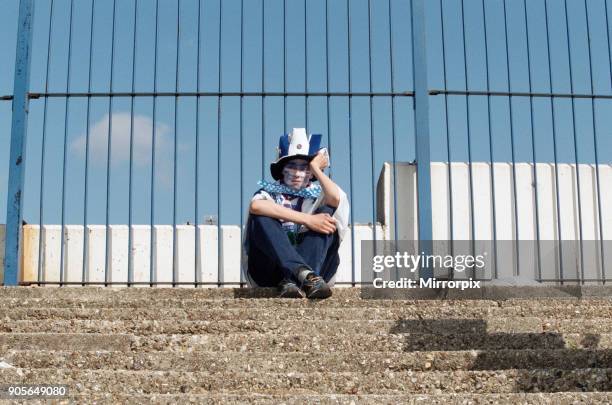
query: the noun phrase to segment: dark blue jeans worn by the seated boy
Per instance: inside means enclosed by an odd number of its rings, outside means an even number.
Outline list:
[[[315,213],[333,215],[335,208],[324,205]],[[329,281],[340,264],[338,232],[331,235],[307,231],[300,233],[293,246],[279,220],[263,215],[249,215],[248,272],[261,287],[274,287],[283,279],[297,283],[296,270],[308,267]]]

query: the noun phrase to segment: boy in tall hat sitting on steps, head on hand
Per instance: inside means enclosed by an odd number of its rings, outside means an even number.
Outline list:
[[[327,298],[348,226],[346,193],[323,169],[321,135],[294,128],[281,136],[273,183],[262,180],[249,206],[243,271],[249,285],[278,287],[284,298]],[[318,181],[319,184],[314,183]]]

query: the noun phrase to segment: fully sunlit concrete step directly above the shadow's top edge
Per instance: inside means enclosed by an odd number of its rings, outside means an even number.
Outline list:
[[[259,302],[258,302],[259,303]],[[35,320],[35,319],[100,319],[100,320],[136,320],[136,319],[172,319],[222,321],[244,319],[263,320],[399,320],[399,319],[437,319],[437,318],[511,318],[541,317],[555,319],[593,319],[612,318],[611,305],[540,305],[531,307],[474,307],[412,305],[399,307],[329,307],[313,306],[286,307],[279,306],[273,311],[270,308],[0,308],[0,319]]]

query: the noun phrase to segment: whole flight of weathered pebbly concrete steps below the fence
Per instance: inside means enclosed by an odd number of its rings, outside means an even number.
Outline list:
[[[96,403],[610,403],[601,294],[324,301],[271,290],[6,288],[0,385]],[[57,403],[68,403],[69,399]]]

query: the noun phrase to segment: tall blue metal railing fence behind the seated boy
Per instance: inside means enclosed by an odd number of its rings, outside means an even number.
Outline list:
[[[346,187],[354,208],[350,219],[353,258],[355,224],[377,222],[377,170],[384,161],[392,162],[394,173],[392,239],[396,241],[402,226],[397,212],[403,209],[397,200],[396,163],[416,161],[418,239],[425,253],[435,239],[432,162],[446,163],[450,239],[457,228],[451,163],[467,162],[473,242],[479,238],[475,206],[479,197],[474,191],[479,180],[474,177],[474,163],[489,163],[495,242],[499,204],[494,162],[511,163],[512,234],[517,240],[524,232],[519,226],[517,163],[530,163],[538,246],[542,237],[536,164],[574,164],[577,173],[578,165],[594,164],[602,264],[601,275],[591,281],[605,282],[609,277],[605,274],[606,211],[599,170],[601,164],[612,161],[606,148],[612,142],[599,127],[607,123],[605,111],[610,106],[605,102],[612,99],[608,8],[607,0],[20,0],[15,84],[9,90],[12,94],[3,98],[13,103],[4,283],[19,283],[22,219],[28,207],[35,207],[28,222],[61,223],[62,241],[67,224],[82,224],[86,229],[92,222],[104,223],[106,285],[114,283],[109,272],[111,223],[125,218],[128,229],[148,224],[150,246],[155,243],[154,225],[172,223],[173,281],[169,284],[180,284],[177,225],[199,225],[204,222],[202,214],[214,213],[219,224],[239,223],[242,230],[252,180],[267,176],[277,136],[297,126],[326,134],[332,152],[330,175]],[[605,40],[601,36],[592,40],[602,32]],[[553,41],[560,38],[559,33],[562,47]],[[31,72],[32,61],[38,63]],[[143,118],[149,114],[150,120]],[[102,119],[94,119],[99,116]],[[550,127],[540,122],[543,117],[549,117]],[[569,136],[563,125],[568,117]],[[592,132],[588,141],[581,135],[587,121]],[[28,126],[33,140],[26,138]],[[118,144],[113,134],[123,126],[129,141]],[[79,132],[75,128],[83,133],[80,139],[73,135]],[[142,128],[150,130],[150,141],[139,138]],[[182,144],[182,134],[193,137]],[[104,147],[98,148],[100,143]],[[73,150],[83,151],[82,163],[71,161]],[[114,168],[114,154],[126,157],[124,170]],[[165,154],[171,155],[168,161],[162,160]],[[50,160],[61,164],[56,175],[48,169]],[[96,168],[94,163],[100,160],[102,168]],[[139,162],[145,162],[147,170]],[[228,162],[238,167],[230,170]],[[362,181],[363,175],[370,181]],[[239,187],[233,183],[236,176]],[[557,169],[554,179],[555,227],[561,239],[565,211]],[[171,191],[164,188],[164,181],[171,184]],[[28,187],[35,183],[36,187]],[[118,192],[117,185],[122,185]],[[579,174],[576,186],[582,251]],[[182,198],[185,194],[190,202]],[[72,201],[81,203],[75,206]],[[143,202],[148,209],[142,209]],[[372,229],[376,239],[376,226]],[[41,235],[39,281],[43,280]],[[201,280],[197,268],[202,259],[200,237],[196,231],[195,281],[190,283],[196,285],[210,284]],[[221,239],[218,227],[217,240]],[[84,232],[78,284],[88,280],[88,243]],[[131,252],[131,231],[127,243]],[[64,245],[60,243],[59,279],[49,283],[69,284]],[[221,243],[217,249],[221,257]],[[520,258],[518,246],[515,254]],[[137,284],[133,257],[128,257],[126,282]],[[150,263],[146,284],[154,285],[158,281],[153,249]],[[582,282],[588,280],[584,267],[581,263]],[[350,284],[357,283],[357,271],[353,260]],[[422,270],[421,276],[431,275],[431,269]],[[558,279],[567,279],[563,260]],[[225,283],[219,264],[218,279],[212,284]]]

